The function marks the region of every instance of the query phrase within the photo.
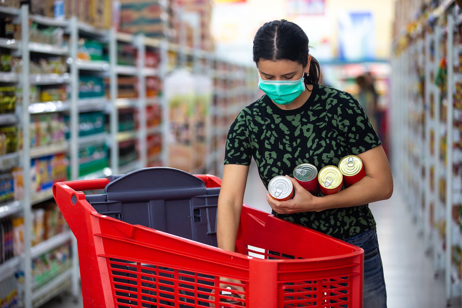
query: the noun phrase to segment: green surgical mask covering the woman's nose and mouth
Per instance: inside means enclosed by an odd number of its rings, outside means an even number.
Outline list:
[[[279,105],[288,105],[292,103],[303,91],[305,83],[303,77],[298,80],[263,80],[258,81],[258,87],[261,91]]]

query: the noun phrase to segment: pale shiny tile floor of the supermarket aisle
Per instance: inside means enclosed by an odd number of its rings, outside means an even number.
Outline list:
[[[255,164],[250,168],[244,202],[263,211],[270,211]],[[404,204],[399,187],[389,200],[370,205],[377,221],[377,234],[382,254],[388,308],[445,308],[443,275],[434,278],[432,262],[424,252],[424,242],[412,223],[410,211]],[[63,295],[43,308],[82,308],[71,296]],[[461,308],[456,299],[451,308]],[[256,307],[260,308],[260,307]]]

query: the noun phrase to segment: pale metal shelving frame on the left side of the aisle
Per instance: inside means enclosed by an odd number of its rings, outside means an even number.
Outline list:
[[[101,178],[111,174],[124,174],[134,169],[144,168],[151,164],[169,165],[168,138],[169,136],[169,106],[159,90],[157,96],[147,96],[146,78],[158,78],[161,81],[168,75],[168,58],[169,52],[176,52],[180,58],[179,64],[185,65],[186,59],[192,59],[192,72],[201,73],[210,78],[219,78],[233,84],[232,89],[221,89],[219,96],[224,100],[234,100],[232,108],[220,109],[220,112],[214,112],[211,109],[207,115],[206,127],[208,127],[206,140],[207,145],[205,155],[207,156],[207,165],[198,166],[191,171],[213,173],[220,175],[216,167],[222,165],[222,153],[224,143],[212,146],[214,136],[223,139],[227,133],[226,125],[230,125],[231,117],[235,116],[244,105],[255,101],[257,87],[256,82],[253,86],[246,86],[250,79],[255,79],[254,70],[249,70],[244,66],[237,66],[220,60],[214,54],[205,52],[196,48],[187,48],[184,44],[172,44],[167,39],[152,39],[143,35],[130,35],[117,33],[114,29],[97,30],[89,24],[82,23],[73,17],[68,20],[55,20],[42,16],[30,16],[28,6],[22,6],[21,9],[13,9],[0,6],[0,18],[5,16],[16,17],[21,23],[21,41],[0,38],[0,48],[8,48],[16,54],[20,54],[23,59],[23,71],[0,72],[0,83],[21,85],[23,88],[22,108],[18,108],[15,115],[0,115],[0,122],[16,124],[22,127],[23,139],[22,150],[0,156],[0,169],[7,169],[21,166],[24,175],[31,174],[30,160],[38,157],[45,157],[56,153],[66,153],[69,157],[69,180],[82,180],[90,178]],[[29,42],[29,21],[32,20],[38,24],[47,26],[62,27],[70,37],[70,44],[66,47],[54,46],[43,43]],[[77,58],[78,41],[82,36],[91,37],[107,44],[109,60],[81,60]],[[117,44],[132,44],[138,54],[136,66],[122,66],[117,64]],[[198,46],[195,45],[195,46]],[[159,54],[160,63],[156,67],[148,67],[145,63],[146,52],[156,52]],[[30,74],[30,55],[40,54],[46,56],[65,56],[67,57],[68,73],[63,74]],[[216,63],[222,63],[230,71],[226,74],[220,72],[211,76],[211,68]],[[237,72],[234,72],[237,71]],[[254,74],[255,73],[255,74]],[[79,98],[79,75],[90,74],[109,78],[109,95],[97,98]],[[136,77],[139,80],[139,96],[134,99],[118,98],[117,93],[117,75],[123,74]],[[235,85],[239,79],[246,79],[244,85]],[[67,85],[70,90],[70,98],[66,101],[49,101],[49,102],[30,102],[31,85]],[[162,86],[161,86],[162,87]],[[245,94],[246,99],[237,99],[239,95]],[[243,98],[243,97],[241,97]],[[161,122],[158,125],[147,127],[146,125],[146,106],[156,105],[162,109]],[[139,125],[134,131],[118,131],[118,111],[121,108],[134,108],[138,111]],[[216,109],[218,110],[218,109]],[[88,111],[103,111],[109,116],[109,132],[79,137],[79,117],[81,113]],[[66,113],[69,115],[69,135],[70,139],[59,144],[44,145],[38,147],[30,146],[30,118],[31,115],[44,113]],[[213,117],[222,116],[227,118],[223,125],[215,129],[213,126]],[[213,133],[218,131],[219,133]],[[151,135],[161,135],[161,151],[155,154],[148,154],[147,139]],[[135,140],[139,147],[137,160],[124,166],[119,166],[118,145],[124,140]],[[85,145],[106,144],[111,148],[110,165],[103,170],[95,170],[91,174],[79,176],[79,150]],[[114,151],[115,150],[115,151]],[[221,167],[220,167],[221,168]],[[30,187],[31,179],[24,176],[24,187]],[[73,234],[66,230],[47,241],[36,246],[31,246],[32,235],[32,205],[36,205],[45,200],[53,198],[52,189],[46,189],[41,192],[31,193],[26,189],[22,201],[13,201],[0,205],[0,218],[20,215],[24,216],[24,254],[15,257],[8,262],[0,265],[0,279],[12,275],[18,269],[24,271],[24,307],[35,308],[45,303],[50,298],[58,295],[63,290],[71,288],[73,296],[79,293],[79,265],[78,251],[76,240]],[[49,283],[36,289],[33,282],[31,271],[31,261],[43,253],[60,247],[62,244],[72,242],[72,266],[64,272],[51,279]]]

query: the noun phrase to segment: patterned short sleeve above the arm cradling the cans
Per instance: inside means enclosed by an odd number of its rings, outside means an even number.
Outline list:
[[[371,121],[359,102],[353,96],[345,94],[338,109],[340,129],[345,133],[345,141],[353,155],[381,145],[382,142],[372,127]]]

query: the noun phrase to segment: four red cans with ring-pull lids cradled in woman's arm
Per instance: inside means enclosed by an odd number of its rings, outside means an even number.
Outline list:
[[[361,158],[348,155],[340,160],[339,166],[325,166],[319,172],[310,163],[299,164],[293,170],[293,177],[300,186],[312,195],[325,196],[338,193],[343,187],[350,187],[365,176]],[[285,201],[295,195],[294,187],[289,178],[278,175],[268,184],[268,191],[273,199]]]

